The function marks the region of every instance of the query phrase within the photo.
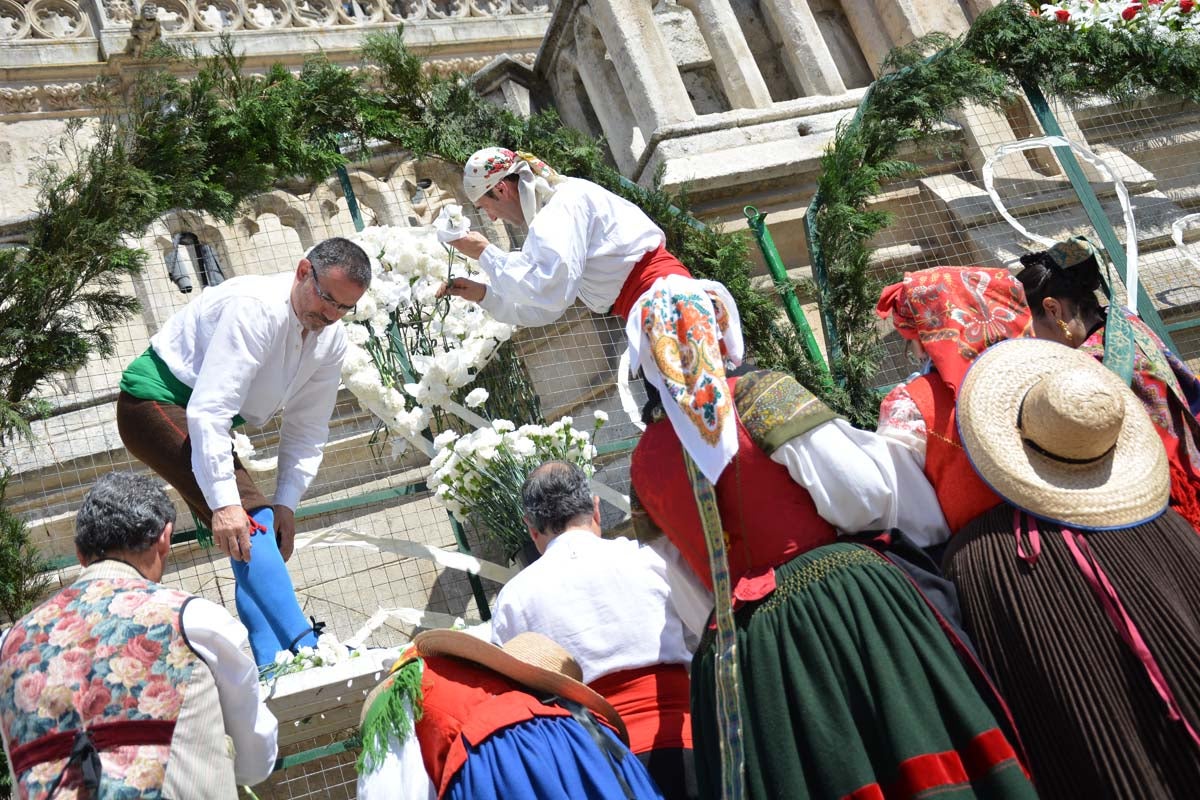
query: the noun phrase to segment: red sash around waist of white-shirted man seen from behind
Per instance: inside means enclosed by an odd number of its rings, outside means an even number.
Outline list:
[[[683,664],[623,669],[596,678],[589,686],[620,714],[634,753],[691,750],[691,679]]]

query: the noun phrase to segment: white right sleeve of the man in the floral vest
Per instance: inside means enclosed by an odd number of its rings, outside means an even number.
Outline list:
[[[238,783],[266,780],[278,754],[278,722],[259,697],[258,667],[246,655],[245,626],[221,606],[200,597],[187,602],[182,628],[188,644],[212,670],[226,734],[235,751]]]

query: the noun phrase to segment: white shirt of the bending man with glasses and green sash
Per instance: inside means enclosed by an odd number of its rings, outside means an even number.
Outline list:
[[[172,374],[192,387],[192,471],[210,509],[239,505],[229,429],[234,415],[263,425],[286,408],[275,503],[295,509],[320,465],[337,399],[346,331],[319,333],[292,308],[292,272],[247,275],[205,289],[150,339]]]

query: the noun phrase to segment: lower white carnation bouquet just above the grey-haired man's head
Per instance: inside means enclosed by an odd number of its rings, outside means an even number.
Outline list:
[[[607,415],[595,413],[592,432],[574,427],[569,416],[551,425],[496,420],[466,435],[445,431],[434,440],[428,486],[461,522],[468,518],[512,558],[529,541],[521,511],[521,486],[547,461],[578,464],[592,475],[596,450],[592,440]]]

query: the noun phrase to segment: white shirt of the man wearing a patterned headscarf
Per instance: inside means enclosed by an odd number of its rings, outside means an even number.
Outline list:
[[[575,302],[606,314],[634,265],[665,241],[636,205],[578,178],[554,186],[520,251],[490,245],[479,258],[488,289],[480,305],[496,319],[548,325]]]

